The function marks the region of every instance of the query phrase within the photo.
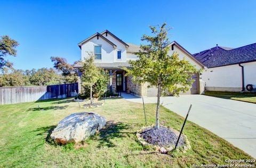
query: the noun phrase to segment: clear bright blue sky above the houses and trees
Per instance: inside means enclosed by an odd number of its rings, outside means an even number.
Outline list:
[[[166,22],[190,53],[256,43],[256,1],[1,1],[0,36],[17,40],[16,69],[52,67],[51,56],[80,59],[77,44],[108,29],[140,44],[149,25]]]

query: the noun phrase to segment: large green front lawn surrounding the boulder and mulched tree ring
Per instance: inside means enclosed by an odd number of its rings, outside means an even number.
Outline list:
[[[84,103],[81,103],[84,104]],[[149,124],[155,122],[156,104],[146,104]],[[187,122],[191,144],[186,154],[160,154],[143,148],[135,132],[145,125],[143,106],[125,99],[107,99],[94,111],[107,117],[107,127],[75,149],[74,144],[54,145],[49,130],[71,113],[89,111],[71,99],[0,106],[0,167],[191,167],[225,164],[225,159],[252,159],[212,132]],[[163,106],[160,121],[180,130],[184,118]],[[227,163],[226,163],[227,164]]]

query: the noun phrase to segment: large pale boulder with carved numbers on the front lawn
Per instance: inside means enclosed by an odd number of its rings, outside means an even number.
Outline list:
[[[106,125],[106,118],[93,112],[71,114],[61,120],[52,131],[51,138],[57,144],[84,141]]]

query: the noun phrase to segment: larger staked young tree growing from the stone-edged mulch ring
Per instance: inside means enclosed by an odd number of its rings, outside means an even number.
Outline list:
[[[137,83],[148,83],[148,87],[157,87],[156,129],[159,128],[159,105],[160,96],[169,91],[174,96],[186,92],[191,87],[192,75],[197,73],[195,66],[185,59],[179,60],[178,53],[169,55],[170,41],[167,37],[166,23],[156,27],[150,26],[154,36],[143,35],[138,53],[139,60],[130,61],[131,69],[126,69],[126,75],[132,75]]]

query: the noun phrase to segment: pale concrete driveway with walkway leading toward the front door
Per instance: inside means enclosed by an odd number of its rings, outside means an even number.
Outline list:
[[[131,102],[142,103],[142,98],[130,94],[122,96]],[[156,97],[144,98],[145,103],[156,103],[156,100]],[[204,95],[161,97],[161,103],[183,117],[192,104],[188,120],[256,158],[256,104]]]

